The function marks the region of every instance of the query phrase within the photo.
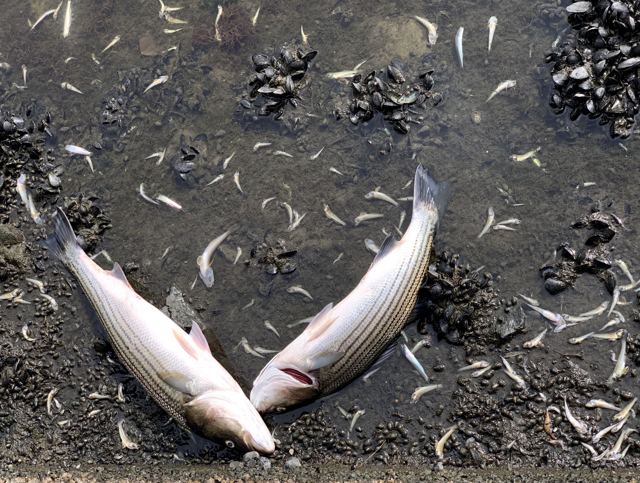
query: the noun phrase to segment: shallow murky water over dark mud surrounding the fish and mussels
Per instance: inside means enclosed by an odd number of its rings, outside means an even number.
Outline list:
[[[282,349],[305,327],[287,328],[287,324],[312,316],[346,296],[372,260],[364,240],[380,244],[385,236],[382,230],[394,230],[401,210],[410,213],[410,203],[396,209],[385,202],[365,200],[364,194],[380,186],[383,193],[394,198],[410,196],[412,187],[404,186],[419,162],[436,179],[449,180],[453,186],[452,201],[436,237],[436,252],[458,253],[472,267],[484,265],[494,277],[500,276],[496,287],[505,297],[520,292],[559,313],[585,312],[610,298],[602,283],[589,275],[582,276],[575,289],[549,296],[538,273],[538,267],[553,257],[560,242],[582,248],[584,234],[568,227],[588,212],[593,200],[602,200],[605,205],[614,201],[609,211],[621,217],[625,216],[625,204],[630,204],[631,215],[625,223],[631,230],[616,238],[612,255],[622,257],[636,273],[635,267],[640,264],[634,227],[640,202],[633,157],[637,137],[622,141],[622,147],[596,122],[588,125],[584,116],[580,122],[571,123],[551,113],[547,107],[548,67],[542,59],[556,33],[541,25],[534,4],[439,1],[425,10],[424,3],[413,1],[339,3],[268,1],[262,4],[257,24],[252,26],[250,19],[258,3],[239,1],[236,5],[244,17],[242,44],[231,50],[211,44],[194,51],[194,31],[211,21],[211,12],[217,8],[214,2],[175,3],[184,8],[173,15],[189,22],[181,25],[159,19],[159,4],[152,0],[74,1],[70,35],[62,38],[63,13],[56,21],[47,17],[33,31],[28,27],[28,20],[35,22],[55,4],[38,0],[29,6],[8,1],[3,17],[11,21],[3,22],[0,32],[0,61],[8,62],[11,70],[0,70],[0,90],[4,91],[0,107],[16,110],[21,102],[31,99],[44,102],[52,113],[54,133],[46,139],[46,146],[67,165],[63,194],[95,194],[113,219],[113,228],[106,232],[99,249],[106,250],[121,265],[139,264],[140,273],[147,277],[145,297],[155,303],[163,303],[174,284],[185,292],[185,298],[200,312],[205,328],[220,340],[228,365],[247,392],[268,359],[255,358],[237,348],[241,338],[248,338],[252,345]],[[336,10],[339,13],[332,14]],[[412,15],[423,15],[431,21],[437,18],[436,45],[428,45],[426,29]],[[487,52],[487,20],[492,15],[498,18],[498,27],[492,51]],[[252,72],[251,54],[271,52],[286,42],[293,45],[300,38],[301,24],[308,35],[309,47],[304,48],[317,49],[319,54],[308,74],[310,84],[295,111],[300,118],[295,132],[282,129],[282,123],[272,120],[240,122],[238,101]],[[454,36],[460,26],[465,27],[464,70],[454,52]],[[163,33],[163,29],[176,28],[182,30]],[[116,35],[121,36],[120,42],[100,53]],[[147,36],[155,44],[155,58],[140,54],[140,38]],[[177,50],[163,53],[173,46]],[[68,58],[72,59],[65,62]],[[364,59],[368,59],[365,70],[385,68],[393,59],[403,61],[414,73],[423,67],[435,69],[433,90],[442,91],[444,100],[436,107],[429,105],[422,124],[412,125],[406,136],[392,130],[386,134],[383,129],[391,126],[380,115],[367,125],[353,126],[348,119],[336,121],[333,104],[348,97],[351,88],[347,81],[330,81],[325,74],[348,70]],[[24,84],[20,69],[23,63],[27,68],[26,89],[15,87]],[[121,127],[117,123],[104,125],[101,102],[105,93],[119,85],[130,67],[146,70],[151,78],[168,75],[169,80],[131,102]],[[517,87],[485,102],[506,79],[515,79]],[[63,90],[63,82],[83,94]],[[289,109],[291,106],[287,107],[287,116]],[[202,133],[206,141],[202,136],[195,141]],[[180,151],[181,136],[187,145],[200,150],[186,181],[173,170],[177,161],[172,158]],[[392,149],[382,155],[380,150],[387,141]],[[63,152],[67,143],[85,146],[93,142],[105,145],[92,157],[95,172],[81,157],[70,158]],[[257,142],[272,144],[254,152]],[[537,146],[541,148],[537,157],[546,165],[543,168],[531,159],[509,161],[509,155]],[[323,147],[322,154],[310,160]],[[163,150],[166,154],[159,166],[156,158],[145,159]],[[275,156],[272,150],[283,150],[293,157]],[[223,171],[221,161],[232,153],[234,157]],[[344,177],[330,172],[330,167]],[[236,171],[244,193],[234,184]],[[205,186],[222,173],[225,177],[221,182]],[[584,182],[595,185],[583,187]],[[138,196],[141,183],[147,194],[165,194],[179,202],[183,210],[145,202]],[[515,202],[522,205],[506,204],[499,187],[509,190]],[[260,209],[262,200],[271,196],[290,203],[300,214],[306,213],[296,230],[287,232],[287,213],[277,203]],[[348,221],[362,211],[379,212],[384,218],[366,226],[349,224],[343,228],[326,218],[323,203]],[[522,224],[515,232],[491,230],[477,239],[488,207],[495,210],[497,221],[519,218]],[[214,287],[207,289],[198,279],[190,289],[197,273],[196,257],[211,239],[234,223],[241,227],[213,258]],[[31,228],[29,223],[22,225],[25,231]],[[287,248],[298,249],[293,258],[298,265],[296,271],[272,276],[265,273],[263,265],[244,265],[254,246],[262,242],[275,246],[278,239],[283,239]],[[233,264],[238,247],[242,255]],[[342,257],[333,262],[340,253]],[[110,268],[104,258],[97,261]],[[313,300],[288,293],[286,289],[292,285],[301,285]],[[627,299],[634,301],[635,297]],[[75,296],[74,303],[78,306],[76,322],[83,323],[77,329],[65,330],[60,336],[65,344],[90,341],[99,335],[95,314],[86,299]],[[618,327],[633,329],[631,310],[630,306],[621,309],[627,322]],[[266,320],[278,329],[280,338],[264,328]],[[561,359],[554,351],[578,352],[566,340],[600,328],[604,322],[603,316],[549,334],[544,341],[548,353],[534,349],[528,357],[550,363]],[[15,322],[16,328],[19,324]],[[510,347],[529,340],[544,325],[541,317],[527,313],[529,333],[516,338]],[[406,328],[406,334],[420,337],[415,325]],[[584,360],[573,361],[595,379],[606,379],[614,365],[609,351],[618,352],[620,343],[585,343],[578,349],[584,349]],[[430,349],[421,349],[419,360],[433,381],[444,384],[444,388],[423,397],[416,406],[410,406],[410,395],[422,384],[398,353],[367,383],[358,379],[303,409],[321,406],[334,424],[348,429],[349,422],[340,417],[335,405],[349,408],[358,404],[367,411],[358,422],[365,432],[371,432],[376,422],[387,421],[393,413],[411,418],[422,415],[433,424],[447,425],[447,405],[451,404],[458,376],[452,362],[455,356],[461,362],[465,358],[462,349],[445,342],[434,341]],[[499,361],[499,356],[490,351],[486,359]],[[445,370],[433,372],[431,367],[436,363],[444,363]],[[634,386],[630,377],[620,383],[622,390]],[[436,416],[440,404],[445,412]],[[273,420],[291,422],[303,409]],[[163,424],[161,411],[156,408],[155,413],[154,422]],[[202,445],[202,440],[193,439],[189,448],[198,450]]]

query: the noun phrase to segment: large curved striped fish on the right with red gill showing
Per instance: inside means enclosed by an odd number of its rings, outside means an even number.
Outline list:
[[[449,186],[418,166],[413,215],[404,236],[388,235],[369,271],[338,305],[327,305],[253,381],[260,413],[284,411],[335,392],[366,370],[404,327],[427,271]]]

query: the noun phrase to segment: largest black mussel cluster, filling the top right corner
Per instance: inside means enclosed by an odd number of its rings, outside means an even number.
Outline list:
[[[577,30],[578,46],[564,42],[547,55],[555,91],[556,114],[571,109],[570,119],[586,115],[609,123],[612,138],[628,138],[640,109],[640,20],[634,1],[577,1],[566,8]],[[636,19],[636,15],[639,17]],[[639,26],[640,27],[640,26]]]

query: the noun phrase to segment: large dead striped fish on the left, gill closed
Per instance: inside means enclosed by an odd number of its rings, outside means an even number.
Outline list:
[[[227,447],[273,453],[269,430],[213,358],[198,324],[187,334],[134,292],[120,265],[106,271],[95,264],[60,208],[47,245],[76,276],[122,363],[175,422],[205,438],[227,439]]]

